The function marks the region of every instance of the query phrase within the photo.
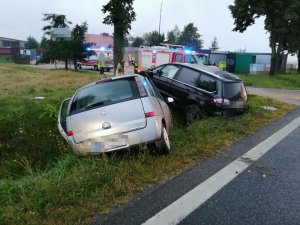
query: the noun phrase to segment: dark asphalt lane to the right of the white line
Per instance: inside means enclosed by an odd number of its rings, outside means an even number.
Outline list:
[[[300,224],[299,137],[300,127],[179,224]]]

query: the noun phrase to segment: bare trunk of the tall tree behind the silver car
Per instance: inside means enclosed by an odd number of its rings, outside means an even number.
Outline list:
[[[122,65],[123,61],[124,34],[120,30],[117,25],[114,26],[114,76],[118,63]]]

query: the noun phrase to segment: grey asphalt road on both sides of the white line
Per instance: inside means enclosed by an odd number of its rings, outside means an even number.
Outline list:
[[[149,188],[135,195],[129,204],[115,208],[110,214],[97,216],[96,224],[300,224],[300,127],[291,133],[258,160],[249,160],[243,171],[236,171],[233,179],[213,193],[177,222],[160,221],[170,205],[210,180],[243,154],[255,149],[288,124],[295,125],[300,108],[264,127],[253,136],[240,140],[224,152],[199,162],[173,180]],[[292,123],[291,123],[292,122]],[[299,119],[298,119],[299,123]],[[297,123],[297,124],[298,124]],[[283,133],[279,134],[279,136]],[[274,139],[273,140],[277,140]],[[279,141],[280,140],[280,141]],[[271,141],[272,142],[272,141]],[[265,145],[265,144],[263,144]],[[226,178],[226,174],[223,175]],[[218,179],[215,179],[218,180]],[[222,177],[221,179],[222,180]],[[200,202],[205,192],[218,184],[211,184],[203,194],[191,197],[191,202]],[[189,202],[188,202],[189,203]],[[175,211],[187,209],[185,203],[175,204]],[[151,219],[157,217],[158,222]],[[166,217],[176,217],[177,213]],[[156,218],[157,219],[157,218]],[[150,222],[149,222],[150,221]]]

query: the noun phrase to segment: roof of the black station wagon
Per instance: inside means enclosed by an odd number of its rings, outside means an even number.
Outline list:
[[[169,65],[180,65],[192,69],[196,69],[199,71],[202,71],[204,73],[208,73],[218,79],[224,80],[224,81],[242,81],[238,76],[229,73],[227,71],[220,70],[217,67],[212,66],[206,66],[203,64],[189,64],[189,63],[168,63]],[[165,64],[165,65],[168,65]]]

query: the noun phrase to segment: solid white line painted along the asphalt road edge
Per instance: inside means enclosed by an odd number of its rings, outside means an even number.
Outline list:
[[[300,117],[294,119],[287,126],[283,127],[203,183],[177,199],[171,205],[158,212],[155,216],[143,223],[143,225],[171,225],[179,223],[247,169],[253,161],[258,160],[272,147],[293,132],[298,126],[300,126]]]

